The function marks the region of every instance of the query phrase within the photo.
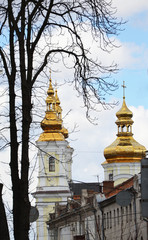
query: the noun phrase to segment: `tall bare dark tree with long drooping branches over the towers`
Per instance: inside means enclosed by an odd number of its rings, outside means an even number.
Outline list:
[[[84,105],[89,109],[94,101],[104,104],[104,93],[117,87],[106,79],[106,74],[116,71],[116,65],[105,66],[99,58],[92,59],[82,33],[88,32],[104,51],[111,50],[114,44],[110,37],[116,35],[121,26],[114,14],[109,0],[1,0],[0,57],[4,69],[1,79],[7,80],[9,96],[16,240],[29,238],[29,136],[33,91],[36,91],[35,86],[40,86],[37,81],[48,63],[56,64],[61,60],[68,66],[66,59],[70,58],[74,68],[72,82],[82,94]],[[60,41],[62,37],[67,39],[64,44]]]

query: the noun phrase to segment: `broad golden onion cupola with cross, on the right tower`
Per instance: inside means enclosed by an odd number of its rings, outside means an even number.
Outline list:
[[[125,87],[125,86],[123,86]],[[133,114],[126,106],[125,96],[121,109],[116,113],[118,133],[116,140],[104,150],[105,163],[140,162],[146,148],[133,138]]]

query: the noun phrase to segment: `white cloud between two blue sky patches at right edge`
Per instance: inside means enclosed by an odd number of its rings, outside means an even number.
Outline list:
[[[148,65],[148,47],[144,44],[136,44],[135,42],[121,42],[119,39],[114,40],[114,44],[118,46],[110,53],[100,51],[94,44],[92,54],[99,59],[104,65],[117,63],[119,69],[141,69],[147,68]]]

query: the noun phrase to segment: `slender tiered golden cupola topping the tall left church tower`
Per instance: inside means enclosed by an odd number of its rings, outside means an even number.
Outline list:
[[[68,137],[68,130],[63,127],[62,109],[57,90],[54,91],[50,78],[46,98],[45,117],[41,122],[43,133],[38,141],[63,141]]]

